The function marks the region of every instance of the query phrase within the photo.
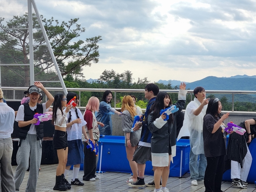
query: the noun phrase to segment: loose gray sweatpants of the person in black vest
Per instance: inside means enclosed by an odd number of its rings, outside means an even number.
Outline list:
[[[37,140],[37,135],[27,134],[26,139],[20,139],[20,142],[20,147],[16,155],[18,166],[14,176],[16,191],[19,191],[26,170],[29,168],[30,158],[29,179],[27,181],[26,192],[35,192],[42,157],[42,141]]]

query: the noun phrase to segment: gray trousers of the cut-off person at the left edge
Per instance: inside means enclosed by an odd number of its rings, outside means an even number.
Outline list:
[[[14,192],[14,177],[12,173],[12,138],[0,139],[0,191]]]

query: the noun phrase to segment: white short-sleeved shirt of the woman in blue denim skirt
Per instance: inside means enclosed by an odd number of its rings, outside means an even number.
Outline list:
[[[82,123],[74,123],[71,127],[67,127],[66,131],[68,133],[68,141],[82,139],[82,127],[86,125],[81,111],[77,109],[78,117],[82,120]],[[71,120],[70,122],[77,119],[75,109],[71,108]],[[67,114],[67,119],[69,119],[69,112]],[[67,122],[68,123],[68,122]]]

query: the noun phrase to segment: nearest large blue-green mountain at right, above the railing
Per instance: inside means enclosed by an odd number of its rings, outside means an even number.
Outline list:
[[[218,78],[208,76],[204,79],[187,83],[187,88],[191,90],[197,86],[202,86],[206,90],[256,90],[256,78]]]

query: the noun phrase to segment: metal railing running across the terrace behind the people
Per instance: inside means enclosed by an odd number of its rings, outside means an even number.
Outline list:
[[[28,87],[1,87],[4,90],[13,90],[14,99],[8,99],[9,101],[20,101],[20,99],[15,99],[15,90],[27,90]],[[63,91],[61,88],[52,88],[46,87],[47,90],[60,90]],[[132,92],[132,93],[144,93],[144,89],[91,89],[91,88],[67,88],[68,91],[78,91],[79,98],[81,97],[82,91],[93,91],[93,92],[104,92],[106,90],[110,90],[114,93],[114,108],[116,108],[116,92]],[[159,91],[165,91],[167,93],[178,93],[179,90],[167,90],[161,89]],[[235,94],[256,94],[256,91],[234,91],[234,90],[206,90],[207,94],[232,94],[232,112],[234,111],[234,95]],[[191,95],[191,100],[193,96],[193,90],[188,90],[188,94]],[[7,100],[7,101],[8,101]],[[80,101],[79,101],[80,107]]]

